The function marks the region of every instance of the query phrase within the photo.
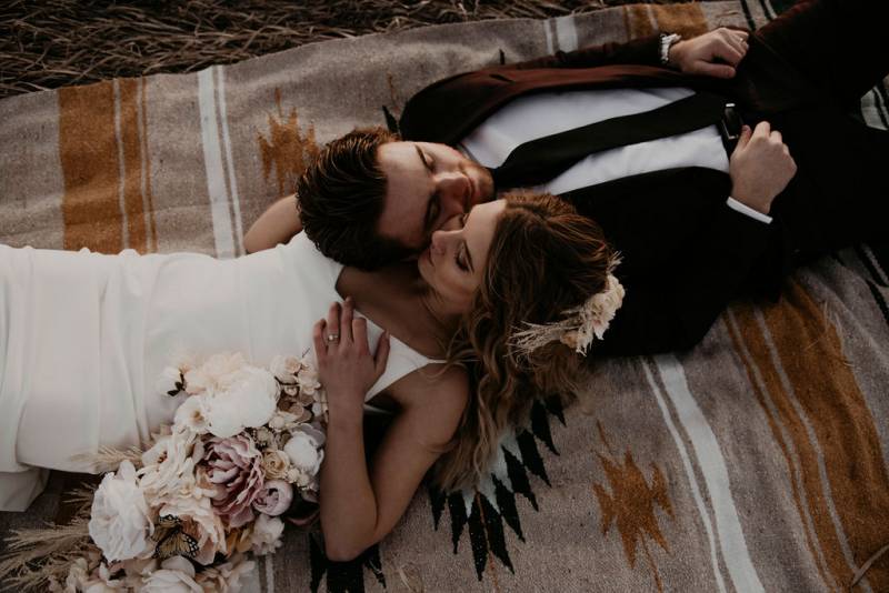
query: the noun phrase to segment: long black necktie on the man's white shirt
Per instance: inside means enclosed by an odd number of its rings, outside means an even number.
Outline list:
[[[538,185],[596,152],[677,135],[717,123],[726,99],[698,92],[658,109],[573,128],[516,147],[491,169],[498,189]]]

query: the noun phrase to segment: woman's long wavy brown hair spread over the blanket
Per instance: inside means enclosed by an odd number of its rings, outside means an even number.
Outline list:
[[[612,250],[598,224],[550,194],[509,194],[506,202],[483,280],[448,349],[449,362],[469,372],[473,395],[433,472],[444,490],[482,478],[501,434],[527,422],[536,398],[572,399],[580,355],[559,342],[520,353],[512,335],[526,323],[558,320],[607,283]]]

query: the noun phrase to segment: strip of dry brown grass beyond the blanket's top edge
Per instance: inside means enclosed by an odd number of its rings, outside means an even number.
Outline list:
[[[12,0],[0,7],[0,98],[114,77],[190,72],[326,39],[559,17],[628,1]]]

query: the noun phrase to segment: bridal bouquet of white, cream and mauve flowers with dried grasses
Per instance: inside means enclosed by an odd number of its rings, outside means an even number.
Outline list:
[[[281,545],[282,517],[311,521],[327,402],[308,360],[276,356],[266,369],[216,354],[166,369],[158,389],[182,396],[172,425],[141,450],[92,460],[114,471],[81,500],[71,524],[81,540],[38,572],[33,546],[13,541],[50,591],[237,591],[253,567],[247,554]]]

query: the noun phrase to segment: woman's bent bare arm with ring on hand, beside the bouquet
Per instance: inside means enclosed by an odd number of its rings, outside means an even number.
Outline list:
[[[468,382],[461,370],[451,369],[440,375],[413,372],[392,385],[394,392],[423,395],[392,421],[369,471],[362,433],[363,399],[386,366],[388,349],[381,342],[374,362],[364,320],[352,322],[348,301],[341,322],[331,323],[338,314],[339,310],[332,309],[332,319],[319,322],[314,335],[330,406],[320,502],[327,555],[347,561],[379,542],[404,513],[423,475],[457,430]],[[341,328],[340,343],[330,346],[329,328],[337,325]],[[353,332],[348,331],[350,326]],[[363,352],[359,352],[361,349]]]

